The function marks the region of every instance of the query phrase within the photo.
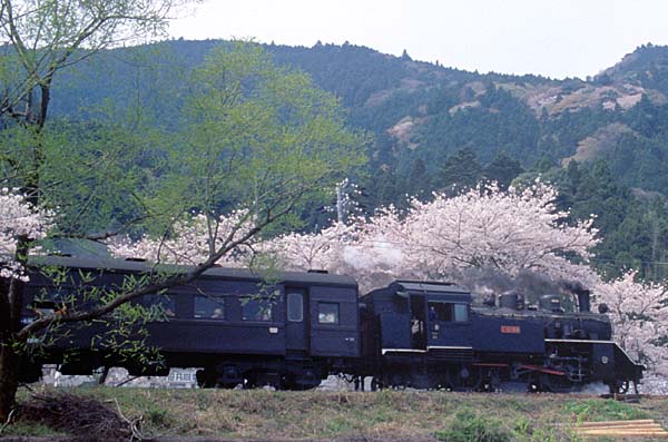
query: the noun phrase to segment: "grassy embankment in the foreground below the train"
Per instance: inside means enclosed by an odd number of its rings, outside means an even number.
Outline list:
[[[376,393],[69,389],[143,418],[147,436],[226,440],[577,441],[561,423],[655,419],[668,425],[668,400],[638,404],[552,394]],[[45,392],[42,392],[45,393]],[[52,391],[47,391],[50,394]],[[26,404],[31,400],[22,396]],[[117,405],[118,404],[118,405]],[[19,420],[3,435],[63,434]],[[596,440],[596,439],[588,439]],[[600,439],[606,440],[606,439]]]

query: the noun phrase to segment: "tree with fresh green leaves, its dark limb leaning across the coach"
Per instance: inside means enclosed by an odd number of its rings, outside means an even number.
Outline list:
[[[126,227],[120,230],[135,226],[168,238],[183,212],[193,209],[206,217],[212,235],[207,258],[196,267],[183,273],[157,267],[114,291],[91,293],[84,284],[85,304],[72,296],[68,308],[28,325],[20,323],[24,283],[2,281],[0,420],[6,420],[14,403],[20,352],[31,337],[108,316],[150,320],[130,301],[191,281],[272,226],[289,222],[363,161],[357,153],[366,139],[345,128],[333,96],[306,75],[274,66],[250,43],[216,50],[194,71],[185,128],[178,132],[146,131],[140,118],[122,120],[114,112],[105,124],[50,119],[58,72],[119,41],[153,36],[173,3],[1,4],[0,28],[10,45],[0,71],[0,179],[20,187],[32,205],[61,206],[60,236],[107,238],[118,229],[98,229],[120,217]],[[235,209],[243,216],[226,225],[229,235],[213,240],[222,215]],[[29,247],[28,238],[19,238],[16,258],[23,265]]]

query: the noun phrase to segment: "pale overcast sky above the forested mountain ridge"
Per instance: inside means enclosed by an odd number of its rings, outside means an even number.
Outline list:
[[[207,0],[175,38],[367,46],[480,72],[592,76],[668,45],[667,0]]]

